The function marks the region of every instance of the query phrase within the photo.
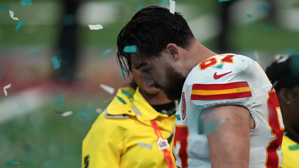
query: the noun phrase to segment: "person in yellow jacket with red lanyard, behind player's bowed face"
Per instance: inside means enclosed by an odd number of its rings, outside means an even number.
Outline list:
[[[175,167],[172,138],[176,104],[160,89],[147,88],[140,72],[133,70],[132,74],[135,86],[118,90],[83,140],[82,168]],[[168,149],[159,150],[158,135],[163,138],[159,144],[167,145],[167,139]],[[168,155],[164,157],[164,153]]]

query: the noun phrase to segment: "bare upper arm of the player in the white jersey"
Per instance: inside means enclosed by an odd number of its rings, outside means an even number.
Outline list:
[[[248,168],[250,149],[250,113],[242,106],[216,106],[201,114],[205,126],[212,168]]]

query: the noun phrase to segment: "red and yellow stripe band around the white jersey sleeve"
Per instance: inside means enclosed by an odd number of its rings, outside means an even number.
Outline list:
[[[251,96],[251,89],[247,82],[193,84],[191,100],[221,100]]]

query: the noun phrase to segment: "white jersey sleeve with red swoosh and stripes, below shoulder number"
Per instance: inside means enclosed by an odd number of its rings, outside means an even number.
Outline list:
[[[204,110],[213,106],[239,105],[251,111],[254,91],[250,76],[255,75],[255,72],[248,71],[248,66],[250,65],[242,64],[223,66],[221,69],[210,67],[209,71],[205,70],[200,79],[187,89],[191,92],[189,95],[193,106]],[[216,76],[215,79],[215,73],[216,75],[228,74],[222,77]]]

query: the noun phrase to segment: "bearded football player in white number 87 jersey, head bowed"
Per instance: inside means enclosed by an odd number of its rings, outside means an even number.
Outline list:
[[[179,102],[177,167],[281,167],[280,107],[257,62],[210,51],[180,13],[159,6],[139,10],[120,31],[117,45],[124,70],[136,68],[147,87],[161,88]],[[124,52],[129,45],[137,51]]]

